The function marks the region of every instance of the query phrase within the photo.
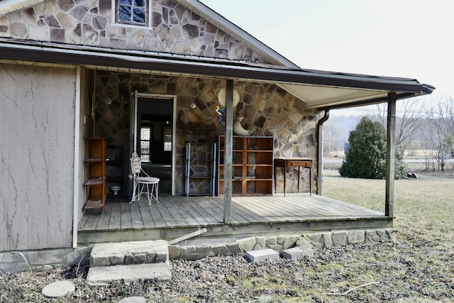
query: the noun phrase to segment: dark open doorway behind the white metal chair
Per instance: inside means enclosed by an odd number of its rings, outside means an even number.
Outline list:
[[[145,172],[160,178],[159,194],[172,194],[174,99],[138,95],[135,150]]]

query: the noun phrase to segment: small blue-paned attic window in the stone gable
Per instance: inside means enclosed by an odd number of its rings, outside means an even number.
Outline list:
[[[116,21],[133,25],[148,24],[147,0],[116,0]]]

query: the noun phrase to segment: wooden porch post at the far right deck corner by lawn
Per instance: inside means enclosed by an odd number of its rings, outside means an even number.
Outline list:
[[[394,216],[394,175],[396,164],[396,93],[388,94],[388,119],[386,143],[386,201],[384,215]]]

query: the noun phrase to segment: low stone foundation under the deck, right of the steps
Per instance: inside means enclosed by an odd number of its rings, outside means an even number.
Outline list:
[[[240,239],[200,239],[185,241],[169,246],[169,257],[196,260],[215,255],[234,255],[250,250],[285,250],[301,243],[311,243],[314,248],[323,249],[331,246],[344,246],[359,243],[395,241],[396,231],[392,228],[327,231],[324,233],[305,233],[286,236],[255,236]]]

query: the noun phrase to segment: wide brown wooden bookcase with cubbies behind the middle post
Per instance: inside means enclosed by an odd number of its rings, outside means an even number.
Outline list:
[[[218,194],[224,190],[225,136],[218,137]],[[232,194],[272,194],[273,138],[233,136]]]

